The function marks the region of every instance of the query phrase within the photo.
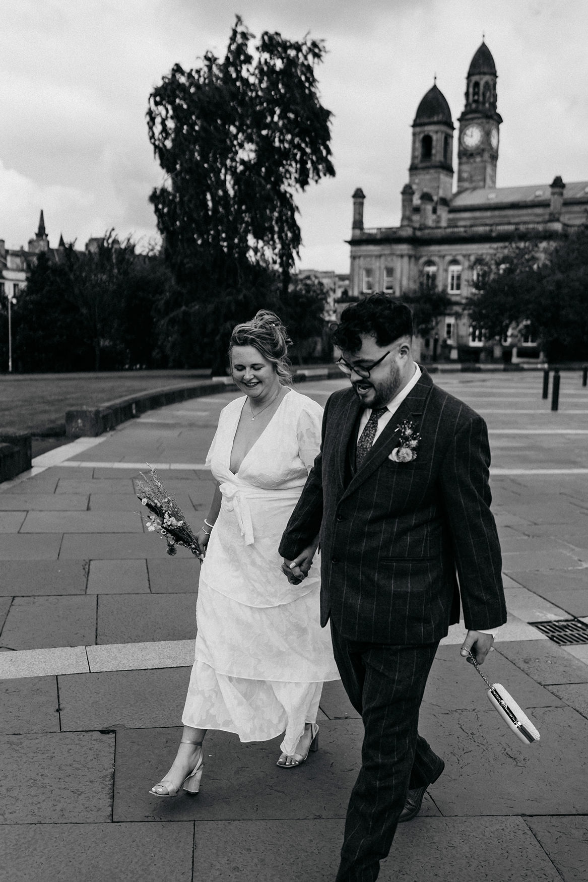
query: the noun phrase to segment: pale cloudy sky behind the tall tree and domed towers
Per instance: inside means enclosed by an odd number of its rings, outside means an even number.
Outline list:
[[[482,34],[498,71],[498,186],[588,179],[587,0],[0,0],[0,238],[50,243],[115,228],[148,243],[161,182],[145,125],[153,86],[238,12],[254,34],[326,41],[318,70],[337,176],[299,199],[300,265],[348,270],[351,194],[369,227],[398,223],[411,123],[433,84],[454,122]],[[454,164],[455,166],[455,164]]]

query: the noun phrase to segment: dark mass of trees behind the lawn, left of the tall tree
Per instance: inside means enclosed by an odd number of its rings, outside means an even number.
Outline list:
[[[54,252],[55,253],[55,252]],[[157,308],[169,273],[113,231],[95,249],[41,252],[12,308],[21,371],[157,367]]]

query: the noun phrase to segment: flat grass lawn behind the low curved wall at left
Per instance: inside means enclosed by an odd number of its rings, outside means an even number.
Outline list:
[[[188,385],[205,370],[137,370],[128,373],[0,376],[0,432],[41,432],[65,422],[65,411],[97,407],[164,386]]]

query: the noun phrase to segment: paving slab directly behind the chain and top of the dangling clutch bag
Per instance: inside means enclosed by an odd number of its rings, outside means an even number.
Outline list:
[[[499,652],[491,652],[480,669],[490,683],[501,683],[524,709],[562,706],[554,693],[535,683]],[[586,671],[588,673],[588,669]],[[439,711],[485,708],[488,687],[455,647],[439,647],[428,676],[424,703]]]

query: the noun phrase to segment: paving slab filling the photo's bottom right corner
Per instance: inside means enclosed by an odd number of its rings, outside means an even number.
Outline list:
[[[525,824],[555,864],[564,882],[585,882],[588,867],[586,818],[525,818]]]

